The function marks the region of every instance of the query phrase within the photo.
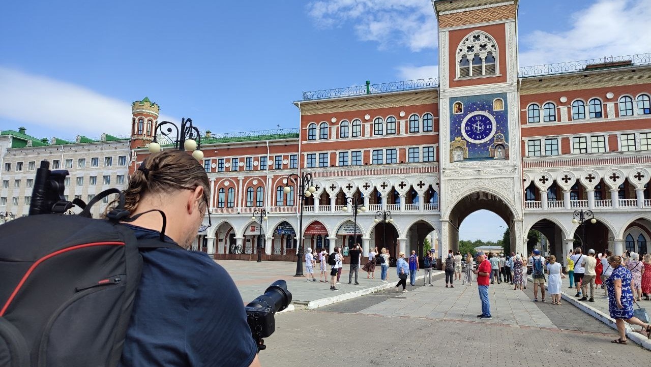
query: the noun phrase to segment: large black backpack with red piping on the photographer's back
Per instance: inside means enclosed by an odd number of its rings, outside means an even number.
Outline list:
[[[0,366],[117,366],[143,260],[122,224],[124,198],[107,217],[29,215],[0,226]],[[121,194],[120,194],[121,195]],[[85,205],[84,205],[85,206]],[[164,221],[164,219],[163,219]]]

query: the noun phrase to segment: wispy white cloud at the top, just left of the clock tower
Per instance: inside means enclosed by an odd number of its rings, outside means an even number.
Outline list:
[[[319,0],[307,5],[321,27],[354,23],[357,36],[380,48],[406,46],[411,51],[436,48],[434,9],[424,0]]]

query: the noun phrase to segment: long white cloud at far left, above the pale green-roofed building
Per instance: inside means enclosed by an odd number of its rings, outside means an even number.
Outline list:
[[[131,102],[0,66],[0,118],[58,129],[62,131],[59,136],[70,138],[65,134],[127,136],[131,116]],[[164,115],[159,120],[174,121]]]

